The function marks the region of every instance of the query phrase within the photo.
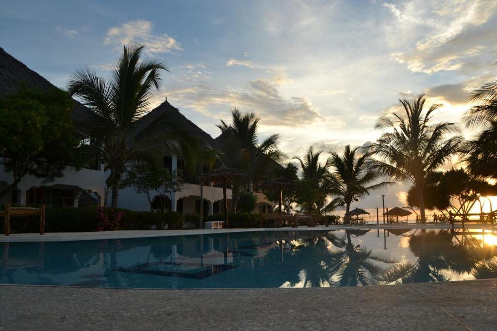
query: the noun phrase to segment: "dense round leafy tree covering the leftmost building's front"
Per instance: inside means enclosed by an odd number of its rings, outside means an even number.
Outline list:
[[[0,198],[28,174],[47,183],[62,177],[69,165],[79,167],[73,106],[68,93],[56,87],[47,91],[21,87],[0,98],[0,164],[13,177]]]

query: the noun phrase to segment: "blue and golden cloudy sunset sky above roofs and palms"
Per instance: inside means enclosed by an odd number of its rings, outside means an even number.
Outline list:
[[[459,122],[497,76],[496,26],[495,0],[0,2],[0,47],[56,86],[84,66],[106,77],[123,43],[144,45],[169,69],[154,105],[167,97],[213,137],[233,107],[255,112],[289,158],[372,141],[419,93],[443,105],[435,121]],[[404,205],[408,189],[357,206]]]

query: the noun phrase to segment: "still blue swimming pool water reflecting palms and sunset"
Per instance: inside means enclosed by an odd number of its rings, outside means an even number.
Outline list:
[[[274,231],[0,243],[0,283],[251,288],[496,277],[497,234],[473,231]]]

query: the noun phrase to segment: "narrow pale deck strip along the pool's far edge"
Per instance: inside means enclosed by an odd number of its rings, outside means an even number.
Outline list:
[[[387,225],[324,225],[309,228],[300,226],[298,228],[253,228],[253,229],[182,229],[182,230],[133,230],[133,231],[101,231],[101,232],[54,232],[40,235],[38,233],[19,233],[4,236],[0,234],[2,242],[28,242],[28,241],[75,241],[75,240],[99,240],[99,239],[126,239],[126,238],[146,238],[146,237],[166,237],[166,236],[187,236],[213,233],[235,233],[235,232],[263,232],[263,231],[319,231],[319,230],[344,230],[344,229],[450,229],[452,226],[447,223],[425,223],[425,224],[387,224]],[[470,223],[465,226],[467,229],[496,230],[495,225]],[[456,224],[455,228],[461,228]]]

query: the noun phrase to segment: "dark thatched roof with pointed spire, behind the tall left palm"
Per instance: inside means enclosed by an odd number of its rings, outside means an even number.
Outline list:
[[[217,145],[209,133],[203,131],[195,123],[188,120],[177,108],[171,106],[167,100],[140,118],[136,123],[135,130],[131,132],[131,136],[138,135],[151,125],[160,123],[161,120],[166,120],[166,123],[174,126],[171,129],[191,132],[195,137],[200,138],[200,140],[212,148],[215,148]]]

